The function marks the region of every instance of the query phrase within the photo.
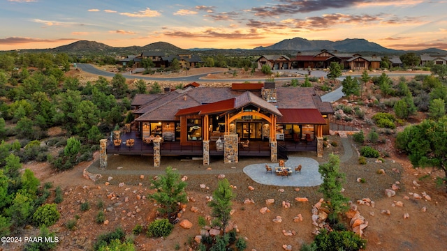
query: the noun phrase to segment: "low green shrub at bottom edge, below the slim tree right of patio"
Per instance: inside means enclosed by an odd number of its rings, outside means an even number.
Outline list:
[[[356,235],[353,231],[326,231],[315,236],[314,243],[317,250],[360,250],[365,248],[366,240]]]

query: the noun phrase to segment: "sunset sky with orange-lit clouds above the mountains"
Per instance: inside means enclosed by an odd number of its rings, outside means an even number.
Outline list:
[[[397,50],[447,50],[447,0],[0,0],[0,50],[77,40],[114,47],[268,46],[288,38],[365,38]]]

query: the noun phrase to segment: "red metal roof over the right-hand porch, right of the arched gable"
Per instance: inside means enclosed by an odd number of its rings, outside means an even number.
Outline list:
[[[300,124],[325,124],[318,109],[279,109],[282,117],[278,117],[277,123],[300,123]]]

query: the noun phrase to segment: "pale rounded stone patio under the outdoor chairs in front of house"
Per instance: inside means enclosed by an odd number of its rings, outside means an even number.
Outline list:
[[[273,172],[265,173],[265,165],[272,167]],[[302,165],[301,173],[295,174],[295,167]],[[307,157],[290,157],[285,164],[291,167],[292,175],[288,177],[277,176],[274,173],[274,167],[278,167],[277,163],[261,163],[252,164],[244,167],[244,173],[252,180],[263,185],[281,185],[295,187],[310,187],[323,183],[320,173],[318,173],[318,162],[313,158]]]

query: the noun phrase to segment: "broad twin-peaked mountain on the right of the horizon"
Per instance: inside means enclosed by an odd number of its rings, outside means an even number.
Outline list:
[[[256,47],[254,50],[295,50],[300,52],[319,51],[319,50],[337,50],[339,52],[398,52],[388,49],[376,43],[365,39],[345,39],[341,41],[330,40],[307,40],[305,38],[291,38],[282,40],[279,43],[268,47]]]

